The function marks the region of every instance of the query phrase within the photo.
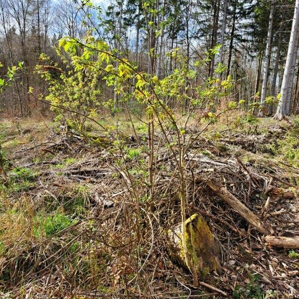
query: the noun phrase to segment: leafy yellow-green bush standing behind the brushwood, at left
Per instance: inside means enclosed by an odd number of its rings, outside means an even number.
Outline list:
[[[71,66],[76,57],[71,58],[71,63],[65,60],[70,69],[68,72],[57,66],[45,65],[38,65],[36,70],[49,85],[45,100],[52,105],[55,120],[67,128],[82,132],[87,118],[97,115],[101,91],[97,72],[88,67],[82,70]],[[45,55],[41,55],[41,58],[49,61]]]

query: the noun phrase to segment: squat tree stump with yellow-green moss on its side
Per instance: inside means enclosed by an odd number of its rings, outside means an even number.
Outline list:
[[[193,214],[185,221],[186,243],[189,258],[199,278],[212,271],[221,271],[220,249],[205,220]],[[181,240],[181,223],[168,231],[170,237],[170,255],[183,268],[187,268]]]

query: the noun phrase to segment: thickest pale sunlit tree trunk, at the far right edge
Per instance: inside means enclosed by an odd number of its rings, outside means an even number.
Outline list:
[[[282,83],[282,88],[281,88],[281,98],[279,100],[277,111],[274,116],[274,119],[277,119],[277,120],[282,120],[285,118],[286,102],[287,102],[287,95],[288,95],[287,94],[288,93],[288,85],[289,85],[289,79],[290,79],[290,74],[291,74],[291,67],[292,67],[292,62],[293,62],[292,58],[294,56],[298,26],[299,26],[299,0],[296,0],[295,10],[294,10],[294,18],[293,18],[293,24],[292,24],[292,31],[291,31],[291,36],[290,36],[287,60],[286,60],[283,83]]]

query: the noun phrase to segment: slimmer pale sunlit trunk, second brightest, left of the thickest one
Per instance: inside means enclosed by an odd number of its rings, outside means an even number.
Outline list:
[[[271,8],[270,8],[269,27],[268,27],[267,44],[266,44],[266,52],[265,52],[265,63],[264,63],[264,70],[263,70],[263,85],[262,85],[262,93],[261,93],[262,108],[260,109],[258,117],[264,117],[265,106],[266,106],[265,100],[266,100],[266,92],[267,92],[269,64],[270,64],[270,57],[271,57],[273,16],[274,16],[274,0],[271,1]]]

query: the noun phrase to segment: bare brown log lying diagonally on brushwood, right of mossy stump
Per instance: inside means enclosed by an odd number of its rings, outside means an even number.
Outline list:
[[[248,209],[238,198],[230,193],[223,185],[215,180],[207,181],[210,189],[230,205],[243,219],[245,219],[257,231],[266,234],[273,234],[274,231],[270,226],[266,227],[262,220]]]

